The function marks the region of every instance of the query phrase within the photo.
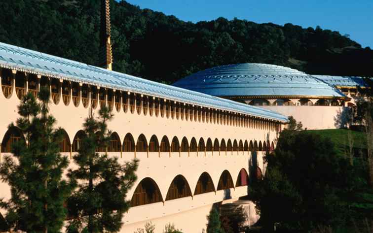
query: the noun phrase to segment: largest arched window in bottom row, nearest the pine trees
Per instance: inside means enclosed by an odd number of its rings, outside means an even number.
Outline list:
[[[131,206],[151,204],[163,201],[158,185],[149,177],[144,178],[136,187],[131,199]]]

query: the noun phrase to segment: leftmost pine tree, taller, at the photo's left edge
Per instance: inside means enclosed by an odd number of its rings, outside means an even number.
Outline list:
[[[63,179],[69,162],[59,153],[62,130],[54,128],[49,96],[41,89],[38,102],[27,94],[18,106],[16,125],[9,125],[25,135],[0,165],[0,177],[11,188],[10,200],[0,202],[11,232],[59,233],[66,219],[64,203],[75,182]]]

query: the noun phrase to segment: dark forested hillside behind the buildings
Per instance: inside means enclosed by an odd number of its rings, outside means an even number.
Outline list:
[[[2,0],[0,41],[98,64],[99,0]],[[372,76],[373,51],[338,32],[218,18],[198,23],[111,2],[114,70],[174,82],[201,69],[268,63]]]

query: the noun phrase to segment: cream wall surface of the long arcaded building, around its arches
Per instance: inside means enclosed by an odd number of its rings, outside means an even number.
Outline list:
[[[7,126],[9,123],[14,122],[17,117],[17,108],[19,100],[15,93],[9,99],[5,99],[2,91],[0,90],[0,105],[2,107],[2,113],[0,117],[0,139],[2,140],[6,133]],[[50,111],[53,116],[57,119],[57,126],[62,127],[66,130],[70,137],[71,143],[73,142],[75,133],[82,128],[84,118],[88,115],[88,108],[84,108],[82,104],[75,107],[73,102],[70,102],[69,106],[65,106],[63,101],[60,100],[58,105],[53,103],[50,104]],[[97,115],[98,109],[96,109]],[[197,143],[200,137],[203,137],[205,142],[208,137],[211,137],[212,141],[218,138],[221,141],[222,138],[225,142],[228,139],[236,139],[237,142],[242,139],[245,140],[257,140],[266,141],[269,139],[270,142],[274,141],[276,132],[266,131],[259,129],[250,129],[236,126],[226,126],[211,123],[201,122],[190,122],[176,119],[161,118],[160,116],[149,116],[140,114],[138,115],[135,111],[134,114],[113,111],[115,113],[114,119],[108,124],[109,129],[113,132],[118,133],[121,143],[126,133],[132,133],[135,138],[143,133],[145,134],[148,143],[151,135],[155,134],[160,141],[163,135],[167,135],[170,142],[174,136],[179,138],[179,142],[184,136],[187,137],[189,143],[190,139],[194,136],[197,139]],[[65,153],[70,156],[70,153]],[[111,156],[117,156],[120,158],[120,152],[109,153]],[[258,152],[258,164],[263,169],[262,154]],[[171,155],[171,156],[170,156]],[[0,159],[4,156],[1,154]],[[124,152],[120,162],[131,160],[135,157],[134,153]],[[215,189],[218,186],[220,175],[224,170],[228,170],[232,176],[233,183],[235,185],[238,173],[241,168],[245,168],[249,173],[249,164],[251,163],[250,152],[207,152],[206,156],[204,153],[199,152],[198,156],[196,152],[182,152],[177,153],[158,153],[151,152],[138,152],[136,157],[140,159],[140,166],[137,171],[138,180],[136,181],[133,188],[128,193],[127,199],[131,200],[132,195],[136,186],[140,181],[146,177],[152,178],[159,186],[163,200],[166,198],[168,188],[178,174],[182,174],[186,177],[186,180],[190,186],[192,194],[197,183],[199,176],[202,172],[206,171],[210,174],[213,179]],[[74,166],[74,164],[71,164]],[[1,183],[0,184],[0,198],[9,198],[10,192],[9,187]],[[247,186],[237,187],[230,189],[231,198],[237,199],[247,195]],[[196,195],[194,197],[188,197],[177,200],[169,200],[164,202],[153,203],[149,205],[142,205],[132,207],[123,219],[123,222],[128,225],[125,226],[121,232],[131,232],[135,227],[143,225],[148,220],[154,220],[159,223],[159,227],[163,228],[164,223],[174,222],[179,228],[183,228],[186,233],[195,232],[197,229],[202,229],[206,224],[206,213],[209,212],[211,205],[215,202],[222,201],[224,199],[224,191],[220,190],[211,193]],[[1,211],[3,213],[3,210]],[[193,214],[194,213],[194,214]],[[186,218],[189,222],[186,222]],[[193,224],[190,224],[193,223]]]

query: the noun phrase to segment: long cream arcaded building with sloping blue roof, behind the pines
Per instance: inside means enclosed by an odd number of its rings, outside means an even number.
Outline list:
[[[121,232],[134,232],[149,220],[157,232],[167,223],[202,232],[214,203],[247,196],[252,168],[265,171],[262,156],[274,148],[287,122],[268,109],[4,43],[0,76],[0,161],[23,137],[7,127],[28,92],[37,95],[40,87],[49,88],[50,112],[65,130],[60,151],[70,158],[79,147],[89,108],[96,114],[104,105],[112,109],[112,140],[102,153],[107,150],[123,163],[140,159],[138,180],[128,193],[133,207]],[[0,189],[0,198],[10,197],[7,184]],[[255,209],[246,205],[254,221]]]

